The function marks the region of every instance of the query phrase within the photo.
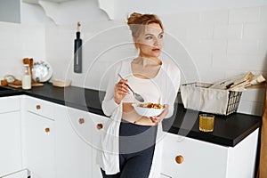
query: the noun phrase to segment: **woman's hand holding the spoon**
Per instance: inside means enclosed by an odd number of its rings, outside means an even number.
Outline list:
[[[129,93],[129,88],[127,85],[128,80],[120,79],[119,82],[114,87],[114,101],[119,104]]]

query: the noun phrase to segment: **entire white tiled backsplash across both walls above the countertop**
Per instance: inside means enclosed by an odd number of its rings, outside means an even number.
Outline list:
[[[212,83],[252,71],[267,73],[267,6],[162,15],[166,30],[163,59],[182,70],[182,83]],[[125,20],[82,24],[83,73],[73,73],[76,25],[44,26],[0,22],[0,77],[20,78],[21,60],[49,61],[53,78],[104,90],[109,68],[137,54]],[[263,89],[243,93],[239,112],[261,115]]]

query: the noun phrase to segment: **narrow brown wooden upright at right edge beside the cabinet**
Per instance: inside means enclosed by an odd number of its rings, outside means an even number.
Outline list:
[[[265,89],[265,102],[263,107],[263,123],[261,133],[260,163],[257,178],[267,177],[267,89]]]

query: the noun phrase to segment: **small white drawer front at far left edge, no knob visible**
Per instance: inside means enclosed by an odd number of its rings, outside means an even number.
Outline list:
[[[20,97],[0,97],[0,113],[20,110]]]

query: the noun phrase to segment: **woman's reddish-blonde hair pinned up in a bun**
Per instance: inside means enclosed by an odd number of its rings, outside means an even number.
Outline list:
[[[135,43],[138,37],[142,36],[144,33],[145,27],[151,23],[157,23],[160,28],[164,30],[161,20],[159,20],[158,16],[155,14],[142,14],[134,12],[127,18],[127,24],[132,31],[132,36]]]

